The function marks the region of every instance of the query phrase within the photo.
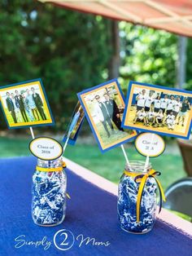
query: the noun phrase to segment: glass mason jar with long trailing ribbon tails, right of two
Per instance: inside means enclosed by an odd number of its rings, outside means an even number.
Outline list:
[[[142,190],[140,215],[139,221],[137,221],[137,194],[142,178],[137,179],[136,176],[146,174],[144,166],[145,162],[131,161],[130,166],[125,166],[127,174],[123,174],[120,178],[117,211],[120,227],[125,232],[143,234],[151,231],[155,223],[157,184],[152,177],[146,179],[146,184]],[[147,172],[150,170],[151,164],[146,167]]]

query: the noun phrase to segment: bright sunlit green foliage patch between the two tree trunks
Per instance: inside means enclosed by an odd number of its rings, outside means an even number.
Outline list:
[[[177,36],[141,25],[120,22],[120,80],[161,86],[176,85]]]

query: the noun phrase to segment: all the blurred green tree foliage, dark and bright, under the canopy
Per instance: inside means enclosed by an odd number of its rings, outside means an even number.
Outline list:
[[[66,130],[76,93],[108,78],[113,44],[111,20],[68,11],[52,3],[0,2],[0,85],[41,77],[57,130]],[[192,90],[191,39],[187,88]],[[176,85],[177,36],[120,22],[120,85],[130,80]],[[0,126],[6,127],[0,112]],[[85,125],[84,125],[85,126]]]

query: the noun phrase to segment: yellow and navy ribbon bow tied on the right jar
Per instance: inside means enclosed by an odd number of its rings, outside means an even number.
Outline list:
[[[165,196],[164,196],[164,189],[162,188],[161,183],[159,183],[159,180],[156,179],[156,177],[155,177],[155,175],[160,175],[160,172],[152,169],[149,172],[147,172],[146,174],[139,174],[139,173],[132,173],[127,170],[124,170],[124,174],[127,176],[134,177],[136,182],[141,181],[139,188],[138,188],[138,193],[137,193],[137,223],[139,223],[139,220],[140,220],[140,206],[141,206],[141,201],[142,201],[143,188],[145,187],[146,180],[150,177],[155,179],[155,181],[158,185],[158,188],[159,188],[159,195],[160,195],[159,212],[160,212],[161,206],[162,206],[162,199],[163,199],[163,201],[166,201]]]

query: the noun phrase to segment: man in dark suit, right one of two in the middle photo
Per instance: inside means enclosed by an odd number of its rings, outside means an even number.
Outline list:
[[[124,131],[124,129],[121,128],[120,110],[116,104],[116,101],[114,99],[110,99],[107,93],[105,93],[103,96],[106,99],[105,105],[108,113],[110,114],[111,120],[115,123],[118,130]]]

